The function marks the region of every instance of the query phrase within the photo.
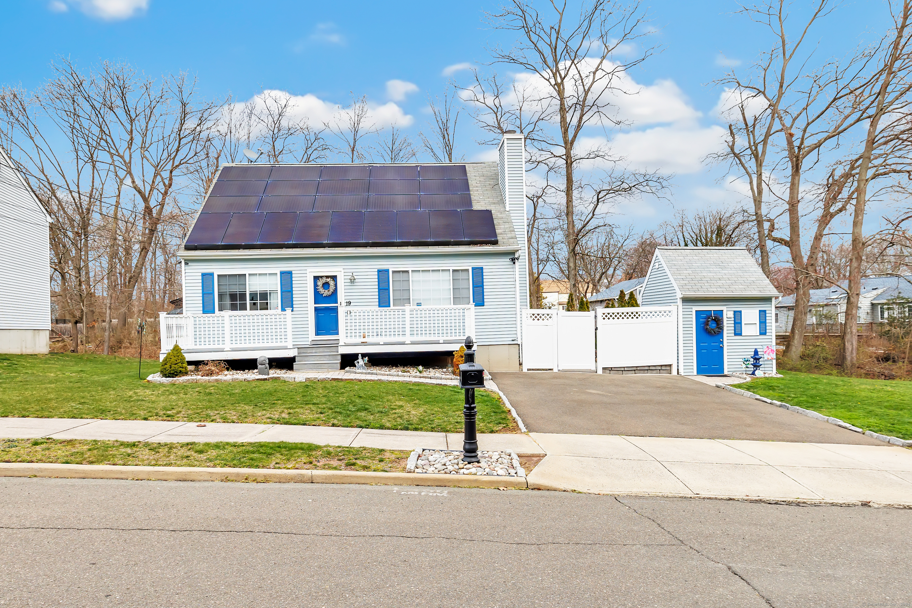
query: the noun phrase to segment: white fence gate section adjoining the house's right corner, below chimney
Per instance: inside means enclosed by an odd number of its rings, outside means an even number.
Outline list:
[[[523,311],[523,372],[530,369],[595,370],[595,313]]]

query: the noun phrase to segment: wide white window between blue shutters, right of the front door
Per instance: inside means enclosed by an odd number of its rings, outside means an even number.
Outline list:
[[[393,306],[461,306],[472,304],[469,269],[394,270]]]

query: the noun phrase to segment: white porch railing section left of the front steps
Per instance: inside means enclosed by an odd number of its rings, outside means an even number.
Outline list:
[[[208,348],[291,348],[291,311],[256,313],[160,313],[161,352]]]

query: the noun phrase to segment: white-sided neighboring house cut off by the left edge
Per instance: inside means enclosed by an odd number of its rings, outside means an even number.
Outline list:
[[[0,353],[47,353],[50,217],[0,147]]]

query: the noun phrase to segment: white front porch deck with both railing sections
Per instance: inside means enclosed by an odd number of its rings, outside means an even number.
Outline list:
[[[339,335],[295,341],[291,311],[160,314],[160,359],[175,344],[188,359],[243,359],[297,355],[297,346],[335,343],[339,353],[455,350],[475,334],[469,306],[339,308]]]

